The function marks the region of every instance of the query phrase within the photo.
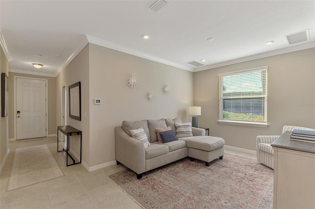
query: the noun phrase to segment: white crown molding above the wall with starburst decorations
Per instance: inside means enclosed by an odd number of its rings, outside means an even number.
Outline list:
[[[186,65],[183,65],[183,64],[179,64],[179,63],[176,63],[176,62],[172,62],[172,61],[169,61],[169,60],[164,60],[164,59],[161,59],[161,58],[158,58],[158,57],[155,57],[155,56],[143,53],[143,52],[139,52],[139,51],[136,51],[136,50],[133,50],[133,49],[130,49],[130,48],[127,48],[127,47],[124,47],[124,46],[121,46],[121,45],[109,42],[109,41],[105,41],[105,40],[100,39],[100,38],[93,37],[91,35],[86,35],[86,36],[87,36],[87,39],[88,39],[89,43],[93,43],[93,44],[96,44],[96,45],[99,45],[99,46],[103,46],[103,47],[107,47],[107,48],[110,48],[110,49],[114,49],[114,50],[117,50],[117,51],[120,51],[120,52],[124,52],[124,53],[130,54],[130,55],[134,55],[134,56],[137,56],[137,57],[140,57],[140,58],[157,61],[157,62],[160,62],[160,63],[163,63],[163,64],[167,64],[167,65],[170,65],[170,66],[173,66],[173,67],[177,67],[177,68],[180,68],[180,69],[183,69],[183,70],[188,70],[188,71],[193,72],[193,68],[192,67],[189,67],[189,66],[186,66]]]

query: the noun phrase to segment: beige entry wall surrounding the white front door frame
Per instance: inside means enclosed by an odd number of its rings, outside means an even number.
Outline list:
[[[9,72],[9,139],[14,137],[14,76],[21,76],[26,78],[40,78],[47,79],[48,86],[48,135],[56,134],[56,78],[47,76],[29,75],[23,73]]]

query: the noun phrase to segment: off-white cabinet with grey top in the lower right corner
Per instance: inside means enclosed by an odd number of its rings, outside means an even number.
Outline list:
[[[290,140],[284,132],[273,144],[274,209],[315,209],[315,143]]]

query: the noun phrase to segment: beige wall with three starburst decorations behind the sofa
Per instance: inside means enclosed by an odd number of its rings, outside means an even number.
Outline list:
[[[127,89],[129,73],[141,84]],[[162,93],[169,84],[170,93]],[[156,98],[148,101],[153,91]],[[101,98],[100,105],[94,104]],[[193,105],[193,73],[155,61],[90,44],[90,166],[115,160],[114,127],[123,120],[181,117],[191,120],[188,107]]]

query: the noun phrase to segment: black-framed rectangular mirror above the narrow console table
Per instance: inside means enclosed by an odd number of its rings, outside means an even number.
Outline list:
[[[69,86],[69,117],[81,120],[81,82]]]

